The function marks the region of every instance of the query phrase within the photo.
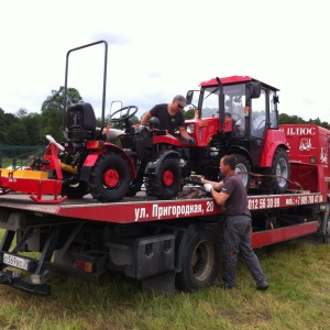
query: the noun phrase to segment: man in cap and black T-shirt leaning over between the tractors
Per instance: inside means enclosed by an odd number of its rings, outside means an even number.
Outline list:
[[[189,136],[185,129],[185,117],[180,111],[186,107],[186,99],[182,95],[174,97],[172,103],[156,105],[153,109],[145,112],[142,117],[141,124],[144,125],[150,118],[156,117],[160,120],[160,129],[167,130],[169,134],[174,135],[176,130],[180,135],[188,140],[189,143],[195,143],[195,139]]]

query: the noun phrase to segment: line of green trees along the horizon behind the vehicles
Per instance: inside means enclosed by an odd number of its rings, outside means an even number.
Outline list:
[[[52,90],[51,95],[42,103],[41,112],[28,113],[23,108],[16,113],[6,113],[0,108],[0,144],[9,145],[46,145],[46,135],[52,135],[56,141],[63,141],[63,96],[64,87],[58,90]],[[75,88],[67,90],[67,106],[82,101],[79,91]],[[186,119],[194,118],[195,110],[188,110],[185,113]],[[106,123],[109,122],[106,120]],[[133,122],[139,122],[139,119],[133,118]],[[101,119],[97,119],[97,124],[100,127]],[[304,120],[298,116],[289,116],[286,113],[279,114],[279,123],[285,124],[317,124],[330,130],[330,124],[317,119]]]

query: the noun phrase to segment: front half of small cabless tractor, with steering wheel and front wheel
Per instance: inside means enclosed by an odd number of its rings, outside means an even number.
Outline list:
[[[146,195],[157,199],[176,197],[184,186],[185,179],[190,175],[185,157],[185,148],[175,136],[165,130],[158,130],[160,121],[152,118],[148,128],[133,125],[130,118],[136,112],[121,108],[113,112],[110,121],[123,122],[124,130],[111,129],[108,141],[119,139],[121,147],[130,155],[136,169],[134,178],[125,196],[135,196],[144,184]]]

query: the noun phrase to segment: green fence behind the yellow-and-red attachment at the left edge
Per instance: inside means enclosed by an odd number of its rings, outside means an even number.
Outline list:
[[[43,154],[44,145],[8,145],[0,144],[0,168],[19,168],[26,165],[31,155]]]

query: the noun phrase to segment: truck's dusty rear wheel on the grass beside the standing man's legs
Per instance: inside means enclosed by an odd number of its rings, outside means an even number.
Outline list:
[[[186,248],[183,271],[176,274],[176,285],[183,290],[197,290],[213,284],[220,270],[220,244],[216,235],[196,232]]]

